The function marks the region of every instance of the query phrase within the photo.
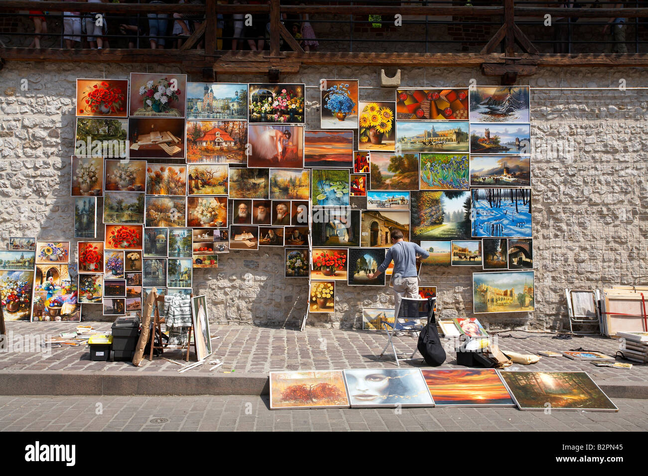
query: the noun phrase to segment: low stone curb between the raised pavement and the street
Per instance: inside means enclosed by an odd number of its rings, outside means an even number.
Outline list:
[[[648,400],[648,383],[599,383],[610,398]],[[268,374],[124,374],[0,370],[0,395],[268,395]]]

